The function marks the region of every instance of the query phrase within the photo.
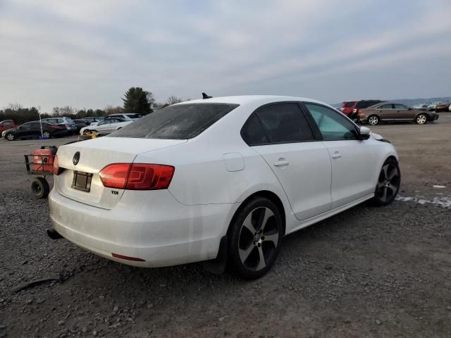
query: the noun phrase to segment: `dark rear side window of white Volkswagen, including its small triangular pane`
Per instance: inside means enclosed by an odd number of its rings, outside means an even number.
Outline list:
[[[257,117],[257,118],[256,118]],[[242,137],[249,145],[303,142],[314,139],[298,104],[271,104],[247,120]]]

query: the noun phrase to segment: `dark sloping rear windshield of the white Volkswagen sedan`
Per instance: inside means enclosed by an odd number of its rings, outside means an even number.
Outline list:
[[[109,136],[140,139],[192,139],[237,106],[237,104],[168,106],[130,123]]]

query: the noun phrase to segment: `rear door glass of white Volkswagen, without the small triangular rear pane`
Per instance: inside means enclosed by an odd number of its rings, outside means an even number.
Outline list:
[[[270,143],[290,143],[313,140],[309,123],[299,104],[271,104],[258,109],[261,122]]]

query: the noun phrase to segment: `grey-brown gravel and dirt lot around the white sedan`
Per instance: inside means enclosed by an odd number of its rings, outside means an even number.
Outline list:
[[[372,129],[397,146],[401,198],[285,237],[254,282],[202,264],[132,268],[52,241],[23,165],[42,142],[1,140],[0,337],[451,337],[451,114]],[[11,294],[61,272],[63,284]]]

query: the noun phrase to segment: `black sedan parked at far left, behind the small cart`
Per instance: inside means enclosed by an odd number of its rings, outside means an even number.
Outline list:
[[[45,121],[39,123],[39,121],[32,121],[24,123],[19,127],[6,130],[5,138],[8,141],[13,141],[14,139],[30,139],[38,138],[41,136],[41,124],[42,124],[42,136],[46,139],[50,137],[62,137],[68,134],[68,130],[63,125],[55,125]]]

